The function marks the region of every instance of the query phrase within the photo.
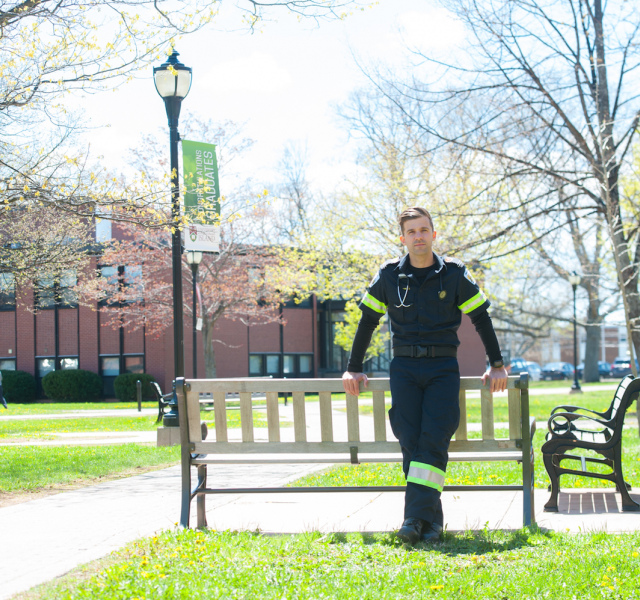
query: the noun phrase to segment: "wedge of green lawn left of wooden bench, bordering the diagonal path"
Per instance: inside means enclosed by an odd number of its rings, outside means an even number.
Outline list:
[[[91,482],[101,477],[169,466],[179,460],[179,446],[0,446],[0,491],[40,490]]]

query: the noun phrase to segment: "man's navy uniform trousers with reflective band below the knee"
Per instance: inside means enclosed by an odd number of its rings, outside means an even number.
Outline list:
[[[389,421],[408,478],[404,518],[442,525],[449,442],[460,422],[458,360],[397,356],[391,361],[390,387]]]

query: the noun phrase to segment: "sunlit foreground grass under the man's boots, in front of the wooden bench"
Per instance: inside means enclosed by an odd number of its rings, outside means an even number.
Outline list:
[[[178,530],[130,544],[28,598],[627,599],[640,595],[639,550],[638,533],[448,533],[409,548],[391,534]]]

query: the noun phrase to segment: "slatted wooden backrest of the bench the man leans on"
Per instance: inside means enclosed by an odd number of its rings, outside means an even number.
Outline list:
[[[387,410],[385,399],[389,395],[389,379],[370,379],[367,387],[373,399],[346,396],[346,432],[336,435],[332,398],[344,394],[341,379],[178,379],[176,393],[180,412],[181,438],[191,445],[191,451],[210,453],[298,453],[298,452],[346,452],[357,443],[358,452],[397,453],[398,443],[387,434]],[[478,394],[479,392],[479,394]],[[239,401],[240,430],[228,427],[227,395],[237,394]],[[293,428],[290,423],[282,427],[278,396],[291,395]],[[310,410],[305,394],[317,394],[314,418],[319,416],[318,435],[308,439],[307,421]],[[215,430],[203,442],[201,434],[201,397],[213,399]],[[255,395],[266,398],[267,430],[265,439],[259,440],[253,425]],[[478,398],[479,396],[479,398]],[[509,377],[507,384],[508,436],[496,436],[493,396],[479,377],[463,377],[460,385],[460,426],[451,442],[452,452],[516,450],[522,447],[524,435],[529,435],[528,379]],[[204,400],[211,402],[211,400]],[[359,406],[372,404],[373,432],[368,438],[361,435]],[[481,415],[481,439],[470,439],[468,409],[479,405]],[[184,418],[186,416],[186,419]],[[343,424],[344,425],[344,424]],[[293,431],[291,431],[293,429]],[[340,429],[340,428],[338,428]],[[286,434],[285,434],[286,430]],[[264,429],[262,429],[264,432]],[[346,433],[346,435],[345,435]],[[342,437],[342,439],[338,439]],[[346,439],[344,439],[346,437]],[[364,438],[364,439],[363,439]]]

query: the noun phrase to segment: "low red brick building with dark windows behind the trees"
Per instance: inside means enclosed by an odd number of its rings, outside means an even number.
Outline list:
[[[105,221],[103,221],[105,223]],[[96,232],[98,241],[104,232]],[[101,237],[102,240],[101,240]],[[109,228],[108,239],[111,235]],[[96,259],[93,267],[96,266]],[[120,267],[126,275],[128,267]],[[138,267],[139,268],[139,267]],[[32,373],[42,377],[56,369],[85,369],[98,373],[106,397],[113,396],[113,380],[120,373],[152,374],[163,391],[173,378],[173,328],[168,323],[160,335],[144,329],[104,326],[105,307],[78,305],[73,287],[74,272],[39,282],[31,289],[16,290],[10,274],[0,273],[0,369]],[[190,286],[184,289],[187,306],[192,302]],[[33,310],[34,307],[37,310]],[[344,318],[344,302],[318,302],[315,297],[282,307],[286,324],[255,324],[221,319],[215,329],[214,350],[218,377],[339,377],[346,368],[347,352],[333,342],[335,323]],[[479,375],[485,368],[482,343],[469,319],[463,316],[459,331],[463,375]],[[204,377],[202,336],[198,334],[198,375]],[[185,374],[193,375],[193,330],[185,318]],[[388,372],[386,356],[369,361],[374,373]]]

